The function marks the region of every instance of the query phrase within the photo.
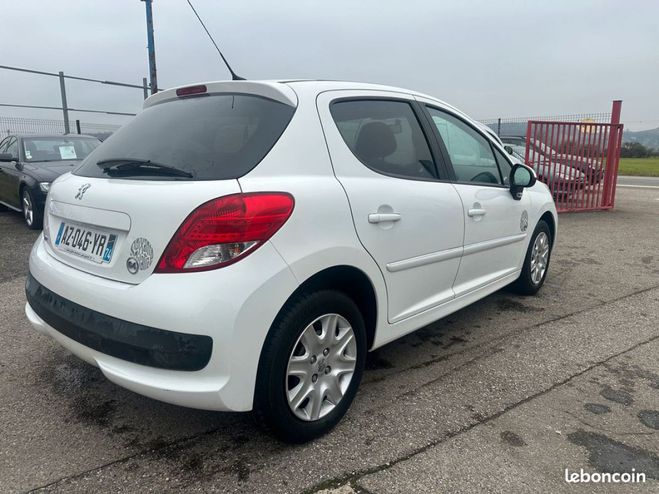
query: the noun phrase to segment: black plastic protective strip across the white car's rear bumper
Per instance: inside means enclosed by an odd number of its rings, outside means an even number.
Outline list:
[[[27,300],[49,326],[78,343],[136,364],[178,371],[203,369],[213,339],[136,324],[78,305],[53,293],[29,274]]]

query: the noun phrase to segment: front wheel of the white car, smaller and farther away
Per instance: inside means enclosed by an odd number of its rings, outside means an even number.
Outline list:
[[[522,272],[511,285],[512,291],[521,295],[535,295],[540,290],[549,271],[552,242],[549,225],[545,220],[540,220],[526,250]]]

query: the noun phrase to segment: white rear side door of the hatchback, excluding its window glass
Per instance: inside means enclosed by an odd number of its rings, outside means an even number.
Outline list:
[[[464,225],[454,219],[462,215],[462,204],[449,183],[389,177],[355,157],[332,120],[329,104],[360,94],[321,93],[317,105],[334,173],[349,198],[357,234],[387,283],[388,320],[398,322],[453,298],[464,235]],[[380,91],[369,95],[402,97]],[[411,95],[408,99],[413,100]],[[413,195],[410,187],[414,187]],[[378,213],[397,213],[401,220],[369,223],[369,215]]]

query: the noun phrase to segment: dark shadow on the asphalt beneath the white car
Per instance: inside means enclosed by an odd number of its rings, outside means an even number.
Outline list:
[[[369,353],[361,391],[367,392],[371,383],[394,374],[427,366],[473,348],[487,334],[488,321],[503,311],[523,314],[543,310],[527,305],[524,300],[514,299],[505,290],[497,292]],[[474,319],[479,322],[474,323]],[[270,442],[271,447],[284,446],[258,429],[249,413],[195,410],[138,395],[110,382],[98,368],[63,348],[54,343],[51,346],[52,349],[44,355],[39,382],[35,385],[45,386],[46,393],[62,402],[63,406],[53,407],[53,413],[62,414],[60,419],[66,424],[77,423],[80,427],[101,430],[120,448],[156,451],[169,447],[172,451],[180,451],[183,443],[211,433],[222,437],[223,442],[231,447],[254,437],[260,437],[260,442]],[[360,396],[361,393],[357,395],[356,403]]]

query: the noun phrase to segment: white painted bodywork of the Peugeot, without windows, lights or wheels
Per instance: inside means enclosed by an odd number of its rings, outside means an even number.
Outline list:
[[[248,93],[296,106],[281,138],[246,175],[217,181],[95,179],[72,174],[51,186],[50,240],[39,237],[30,273],[54,293],[125,321],[213,338],[209,363],[195,372],[151,368],[105,355],[64,336],[30,307],[40,332],[98,366],[111,381],[162,401],[212,410],[250,410],[259,357],[270,326],[288,298],[323,270],[349,266],[370,281],[377,320],[371,349],[419,329],[514,281],[530,235],[545,214],[557,223],[544,184],[513,200],[502,186],[404,180],[362,164],[343,141],[331,101],[378,96],[417,100],[470,120],[434,98],[398,88],[332,81],[220,81],[209,92]],[[145,108],[176,99],[176,89]],[[482,131],[482,129],[481,129]],[[487,136],[487,133],[484,133]],[[506,154],[499,143],[487,138]],[[84,197],[80,187],[91,184]],[[234,193],[288,192],[291,217],[277,233],[235,264],[217,270],[154,274],[183,220],[211,199]],[[470,216],[470,209],[485,215]],[[528,215],[528,228],[520,219]],[[369,214],[397,212],[395,223]],[[95,265],[52,245],[61,220],[117,234],[112,262]],[[149,269],[126,271],[132,242],[148,238]]]

